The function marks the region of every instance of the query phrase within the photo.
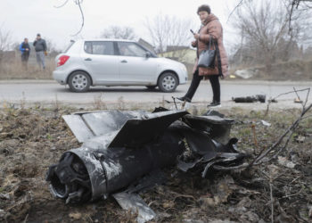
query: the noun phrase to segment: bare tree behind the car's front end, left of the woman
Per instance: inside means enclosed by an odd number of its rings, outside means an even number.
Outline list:
[[[146,19],[144,25],[158,53],[163,54],[170,46],[172,57],[181,58],[186,54],[187,51],[181,49],[181,46],[190,45],[193,21],[159,14],[152,21]]]

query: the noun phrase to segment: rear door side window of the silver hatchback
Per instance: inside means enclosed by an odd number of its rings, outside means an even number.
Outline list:
[[[113,44],[108,41],[86,41],[84,48],[86,54],[114,55]]]

